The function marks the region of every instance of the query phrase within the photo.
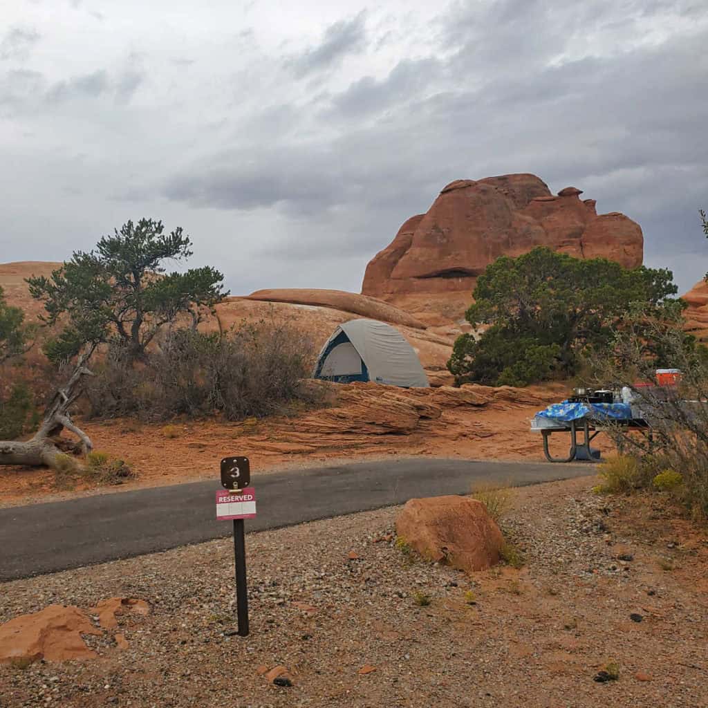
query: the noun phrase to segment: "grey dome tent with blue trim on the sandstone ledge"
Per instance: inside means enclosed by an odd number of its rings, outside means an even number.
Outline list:
[[[314,378],[338,383],[374,381],[405,388],[430,385],[404,336],[375,319],[351,319],[339,325],[319,353]]]

